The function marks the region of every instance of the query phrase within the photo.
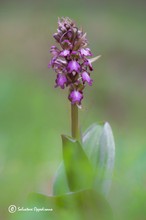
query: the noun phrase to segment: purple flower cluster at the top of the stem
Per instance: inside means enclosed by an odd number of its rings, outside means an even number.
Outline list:
[[[61,18],[53,37],[60,45],[60,48],[51,47],[52,59],[48,65],[57,73],[55,87],[69,87],[68,99],[72,104],[81,105],[85,84],[91,86],[93,81],[90,71],[93,70],[91,62],[94,60],[87,58],[92,53],[87,48],[86,33],[78,29],[71,19]]]

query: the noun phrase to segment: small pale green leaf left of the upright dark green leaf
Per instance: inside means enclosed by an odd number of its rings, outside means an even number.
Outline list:
[[[63,161],[60,163],[53,181],[53,195],[63,195],[70,192]]]

